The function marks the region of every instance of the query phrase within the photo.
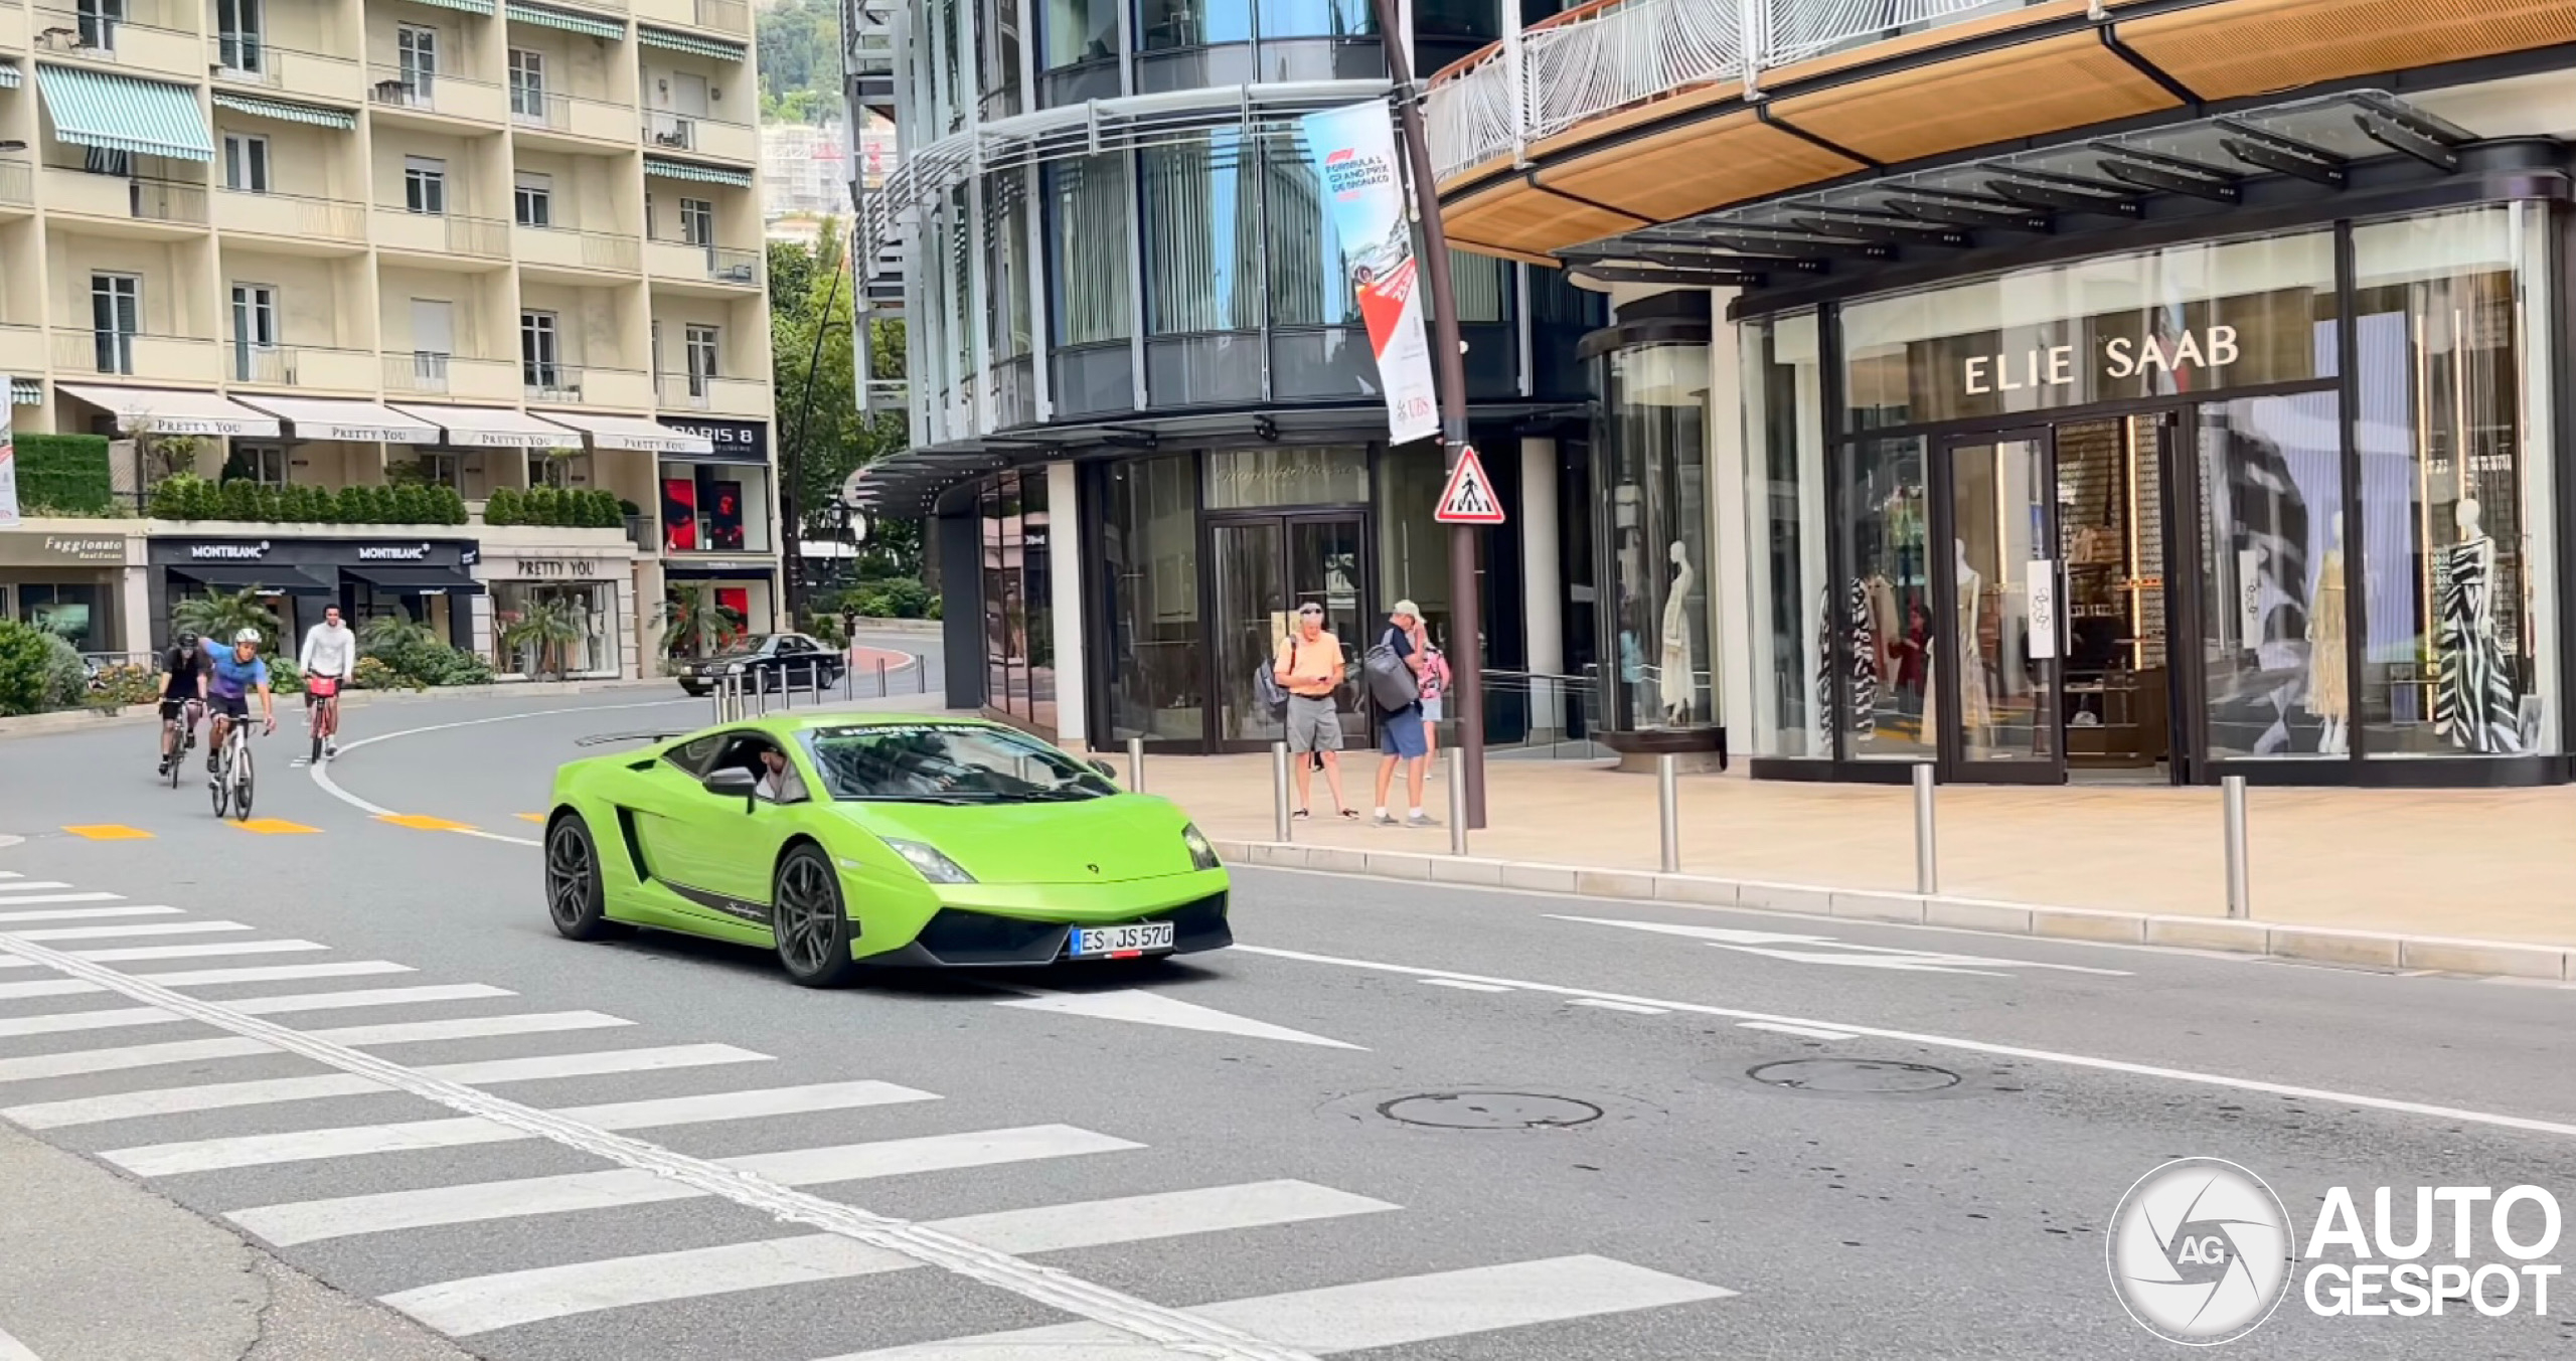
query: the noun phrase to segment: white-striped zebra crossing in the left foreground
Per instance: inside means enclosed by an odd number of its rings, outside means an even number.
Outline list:
[[[77,898],[36,908],[36,898],[67,895]],[[137,939],[147,944],[129,944]],[[417,980],[394,960],[325,955],[332,949],[319,942],[265,939],[247,924],[0,872],[0,1122],[175,1189],[327,1281],[335,1263],[366,1261],[366,1294],[484,1356],[634,1356],[634,1333],[608,1325],[582,1343],[580,1330],[690,1304],[742,1312],[742,1346],[726,1356],[744,1361],[1175,1356],[1154,1338],[1213,1348],[1198,1356],[1296,1358],[1703,1307],[1731,1294],[1577,1253],[1213,1304],[1162,1304],[1151,1289],[1126,1297],[1084,1279],[1084,1253],[1115,1258],[1226,1235],[1252,1235],[1257,1248],[1260,1235],[1298,1225],[1381,1235],[1396,1232],[1388,1225],[1401,1225],[1404,1207],[1298,1178],[1118,1196],[1087,1181],[1087,1194],[1072,1194],[1061,1183],[1079,1168],[1136,1160],[1149,1145],[1043,1114],[984,1127],[943,1114],[943,1093],[881,1078],[793,1081],[775,1057],[716,1039],[621,1045],[618,1032],[636,1021],[546,1011],[484,983]],[[456,1045],[471,1057],[440,1052]],[[317,1047],[348,1063],[332,1068]],[[600,1096],[600,1081],[649,1081],[654,1093],[549,1099],[567,1086]],[[453,1091],[446,1083],[471,1091],[440,1099]],[[477,1093],[492,1099],[474,1104]],[[353,1122],[358,1111],[379,1119]],[[832,1137],[804,1137],[814,1129]],[[665,1135],[711,1153],[675,1153],[654,1142]],[[528,1160],[538,1153],[551,1158],[549,1171]],[[556,1171],[580,1163],[590,1165]],[[672,1176],[672,1165],[703,1176]],[[969,1212],[914,1219],[858,1209],[871,1183],[1012,1168],[1010,1199],[1020,1204],[963,1204],[953,1209]],[[773,1199],[734,1199],[734,1183],[770,1189]],[[793,1212],[817,1194],[842,1217]],[[742,1238],[744,1207],[775,1222]],[[600,1225],[621,1214],[665,1230],[711,1219],[677,1232],[677,1243],[659,1232],[616,1238],[654,1250],[603,1253],[611,1238]],[[415,1243],[438,1250],[415,1266]],[[459,1271],[459,1261],[469,1268]],[[781,1292],[891,1289],[933,1268],[1015,1289],[1023,1302],[984,1312],[976,1294],[976,1307],[943,1315],[945,1338],[871,1346],[871,1297],[858,1294],[835,1356],[762,1333],[762,1310]],[[1072,1320],[1028,1325],[1046,1317],[1028,1302]]]

